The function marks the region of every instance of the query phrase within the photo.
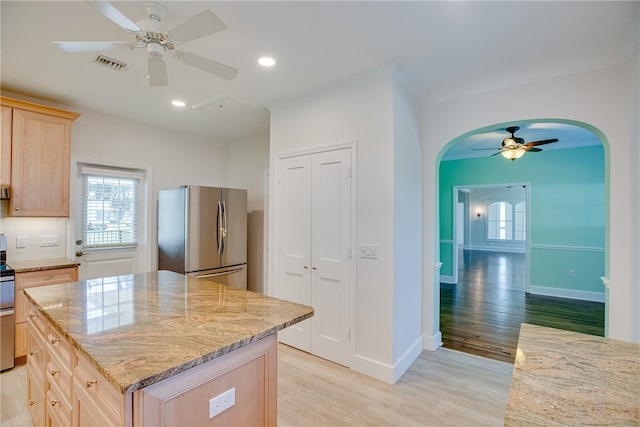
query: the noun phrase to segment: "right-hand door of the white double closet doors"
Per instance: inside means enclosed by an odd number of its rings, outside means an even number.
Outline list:
[[[312,159],[311,353],[349,366],[351,153]]]

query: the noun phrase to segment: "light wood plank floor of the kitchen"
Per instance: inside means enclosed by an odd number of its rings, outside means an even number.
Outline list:
[[[424,351],[389,385],[278,345],[278,425],[501,426],[513,366],[454,350]],[[31,425],[26,367],[0,375],[2,427]]]

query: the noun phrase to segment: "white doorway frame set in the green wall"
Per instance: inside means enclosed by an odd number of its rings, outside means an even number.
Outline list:
[[[452,271],[452,280],[454,284],[458,283],[458,250],[457,250],[457,242],[458,242],[458,227],[457,225],[457,205],[458,205],[458,193],[464,192],[465,189],[474,188],[487,188],[487,187],[505,187],[505,186],[523,186],[525,188],[524,199],[527,204],[527,239],[525,241],[525,282],[524,282],[524,290],[525,292],[529,292],[531,275],[529,274],[529,266],[530,266],[530,256],[531,256],[531,183],[529,181],[523,182],[507,182],[507,183],[492,183],[492,184],[469,184],[469,185],[455,185],[453,186],[453,206],[452,206],[452,221],[453,221],[453,271]],[[484,212],[486,217],[487,213]],[[465,227],[468,225],[465,223]],[[466,229],[466,228],[465,228]]]

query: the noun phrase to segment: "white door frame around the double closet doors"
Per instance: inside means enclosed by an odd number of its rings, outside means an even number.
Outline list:
[[[279,179],[278,175],[278,168],[279,168],[279,163],[280,160],[282,159],[286,159],[288,157],[297,157],[297,156],[304,156],[304,155],[309,155],[309,154],[317,154],[317,153],[322,153],[322,152],[326,152],[326,151],[336,151],[336,150],[343,150],[343,149],[350,149],[350,153],[351,153],[351,225],[350,225],[350,229],[351,229],[351,236],[350,236],[350,248],[349,248],[349,259],[351,260],[350,265],[349,265],[349,366],[353,366],[353,358],[356,354],[356,278],[357,278],[357,253],[356,253],[356,247],[357,247],[357,230],[356,230],[356,218],[357,218],[357,176],[358,176],[358,167],[357,167],[357,158],[358,158],[358,141],[357,140],[348,140],[348,141],[344,141],[344,142],[336,142],[336,143],[329,143],[329,144],[323,144],[323,145],[317,145],[317,146],[312,146],[312,147],[307,147],[307,148],[303,148],[303,149],[296,149],[296,150],[287,150],[287,151],[283,151],[280,153],[276,153],[274,158],[275,158],[275,173],[271,174],[271,188],[274,190],[272,192],[272,194],[274,194],[274,206],[273,209],[274,211],[276,209],[279,208],[279,206],[277,206],[278,203],[278,194],[275,191],[276,187],[277,187],[277,179]],[[271,216],[271,215],[270,215]],[[276,215],[272,215],[273,218],[276,217]],[[273,222],[273,223],[271,223]],[[271,246],[271,244],[275,244],[275,236],[277,236],[277,229],[276,229],[276,221],[270,221],[270,235],[273,236],[273,239],[269,239],[269,246]],[[276,278],[278,277],[278,266],[277,266],[277,262],[276,262],[276,256],[277,256],[277,250],[269,250],[269,262],[268,265],[272,266],[273,268],[269,269],[269,282],[267,285],[267,289],[269,289],[269,295],[274,296],[277,293],[277,283],[276,283]]]

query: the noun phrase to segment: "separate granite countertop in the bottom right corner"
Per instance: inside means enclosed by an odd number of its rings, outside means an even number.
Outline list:
[[[504,425],[640,425],[640,344],[523,323]]]

